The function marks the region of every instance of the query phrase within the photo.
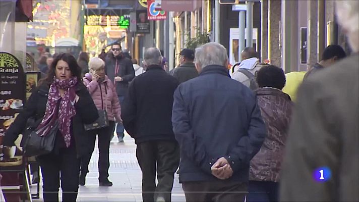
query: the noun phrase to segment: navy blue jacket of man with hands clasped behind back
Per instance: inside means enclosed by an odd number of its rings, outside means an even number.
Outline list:
[[[259,151],[266,127],[255,94],[229,77],[223,66],[210,65],[174,92],[172,126],[181,148],[179,180],[219,180],[211,166],[224,157],[233,175],[246,182],[249,162]]]

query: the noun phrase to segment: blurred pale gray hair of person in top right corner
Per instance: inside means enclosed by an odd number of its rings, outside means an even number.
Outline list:
[[[359,51],[359,2],[336,1],[336,15],[339,24],[347,31],[349,44],[354,52]]]

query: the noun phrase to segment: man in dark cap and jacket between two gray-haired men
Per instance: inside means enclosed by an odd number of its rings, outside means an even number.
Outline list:
[[[184,48],[181,53],[179,53],[179,67],[173,69],[170,74],[176,78],[179,83],[183,83],[190,79],[193,79],[198,76],[195,64],[195,52],[191,49]]]

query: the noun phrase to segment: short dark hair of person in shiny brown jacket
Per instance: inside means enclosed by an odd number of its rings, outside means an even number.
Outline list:
[[[285,85],[285,75],[281,68],[274,65],[261,68],[257,72],[258,87],[272,87],[283,89]]]

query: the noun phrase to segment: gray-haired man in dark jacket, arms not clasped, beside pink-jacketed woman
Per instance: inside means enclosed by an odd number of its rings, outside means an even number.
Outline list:
[[[146,72],[130,83],[122,119],[137,144],[143,201],[170,201],[179,163],[179,147],[171,123],[173,92],[178,81],[162,69],[159,49],[148,48],[143,59]]]

